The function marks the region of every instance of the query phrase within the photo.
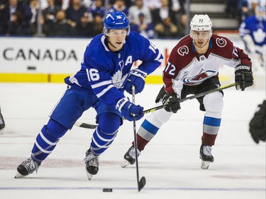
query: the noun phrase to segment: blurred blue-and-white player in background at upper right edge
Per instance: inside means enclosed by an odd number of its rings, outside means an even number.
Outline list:
[[[240,24],[239,34],[245,44],[245,50],[253,59],[254,69],[265,67],[266,56],[266,13],[265,7],[257,6],[255,16],[248,16]]]

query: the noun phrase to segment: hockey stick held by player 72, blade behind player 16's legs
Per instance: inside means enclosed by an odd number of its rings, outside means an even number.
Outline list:
[[[210,94],[210,93],[215,93],[217,91],[222,91],[224,89],[228,89],[228,88],[231,88],[233,86],[235,86],[236,84],[235,83],[232,83],[232,84],[228,84],[228,85],[225,85],[225,86],[220,86],[216,89],[211,89],[209,91],[205,91],[205,92],[202,92],[202,93],[198,93],[194,96],[189,96],[187,98],[182,98],[180,99],[179,103],[182,103],[184,101],[189,101],[189,100],[192,100],[194,98],[199,98],[199,97],[202,97],[202,96],[206,96],[207,94]],[[147,110],[144,110],[143,112],[144,113],[151,113],[155,110],[159,110],[159,109],[162,109],[163,108],[163,105],[160,105],[160,106],[156,106],[156,107],[153,107],[153,108],[149,108]],[[89,128],[89,129],[94,129],[97,127],[97,125],[92,125],[92,124],[87,124],[87,123],[79,123],[79,122],[76,122],[74,123],[74,125],[78,126],[78,127],[84,127],[84,128]]]

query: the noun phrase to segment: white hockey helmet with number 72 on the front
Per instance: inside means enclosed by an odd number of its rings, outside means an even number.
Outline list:
[[[190,37],[192,37],[193,30],[199,30],[199,31],[209,30],[211,37],[212,34],[211,26],[212,26],[211,19],[209,18],[208,15],[195,14],[194,17],[192,18],[192,21],[190,22]]]

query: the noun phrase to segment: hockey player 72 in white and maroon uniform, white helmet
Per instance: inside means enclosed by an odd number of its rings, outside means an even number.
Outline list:
[[[137,133],[138,154],[157,134],[172,113],[181,108],[180,98],[189,94],[202,93],[221,86],[218,70],[222,65],[235,68],[236,89],[253,85],[253,72],[250,58],[244,50],[235,47],[227,38],[213,35],[211,20],[207,15],[195,15],[190,23],[190,35],[185,36],[173,48],[163,71],[164,86],[156,98],[156,106],[164,105],[165,109],[155,110],[143,121]],[[208,169],[214,161],[212,146],[221,124],[223,110],[223,92],[210,93],[196,98],[199,109],[205,111],[199,157],[201,168]],[[187,133],[186,130],[175,129],[176,133]],[[125,164],[135,163],[133,145],[124,155]]]

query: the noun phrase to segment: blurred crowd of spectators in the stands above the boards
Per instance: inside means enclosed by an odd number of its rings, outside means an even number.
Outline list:
[[[252,0],[225,0],[226,11],[243,21]],[[131,30],[145,38],[187,35],[186,0],[0,0],[0,35],[94,37],[108,11],[123,11]],[[39,22],[39,23],[38,23]]]

